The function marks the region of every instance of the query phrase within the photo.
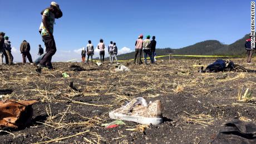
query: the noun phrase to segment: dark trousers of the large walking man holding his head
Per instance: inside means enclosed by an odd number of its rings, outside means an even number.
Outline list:
[[[46,54],[43,59],[40,61],[40,64],[43,66],[52,67],[52,56],[56,53],[56,44],[53,37],[50,36],[42,36],[43,41],[45,42]]]

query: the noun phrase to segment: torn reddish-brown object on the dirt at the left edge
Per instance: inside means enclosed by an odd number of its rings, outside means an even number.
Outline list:
[[[0,101],[0,128],[18,128],[31,123],[32,104],[37,101]]]

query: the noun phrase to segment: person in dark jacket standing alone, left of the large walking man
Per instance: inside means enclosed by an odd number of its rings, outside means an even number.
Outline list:
[[[28,61],[33,64],[33,61],[32,61],[32,57],[31,57],[31,54],[29,53],[30,51],[30,45],[29,43],[24,40],[22,43],[21,43],[21,47],[20,47],[20,50],[21,50],[21,53],[22,53],[22,63],[25,64],[26,63],[26,57],[28,58]]]

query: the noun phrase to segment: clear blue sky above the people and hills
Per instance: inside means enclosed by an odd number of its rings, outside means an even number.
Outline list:
[[[63,17],[56,19],[53,61],[78,58],[90,39],[114,41],[120,53],[134,51],[139,34],[156,36],[157,48],[181,48],[216,39],[225,44],[250,33],[250,1],[81,0],[55,1]],[[0,31],[12,42],[14,61],[21,61],[19,46],[26,39],[32,58],[44,46],[38,28],[40,12],[51,1],[0,0]],[[119,54],[120,54],[119,53]],[[96,53],[97,56],[97,53]],[[77,60],[77,61],[78,61]]]

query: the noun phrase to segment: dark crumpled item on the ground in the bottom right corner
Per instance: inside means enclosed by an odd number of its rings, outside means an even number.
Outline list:
[[[256,143],[256,125],[255,123],[245,123],[235,120],[225,124],[223,130],[220,130],[211,144],[228,143]]]

